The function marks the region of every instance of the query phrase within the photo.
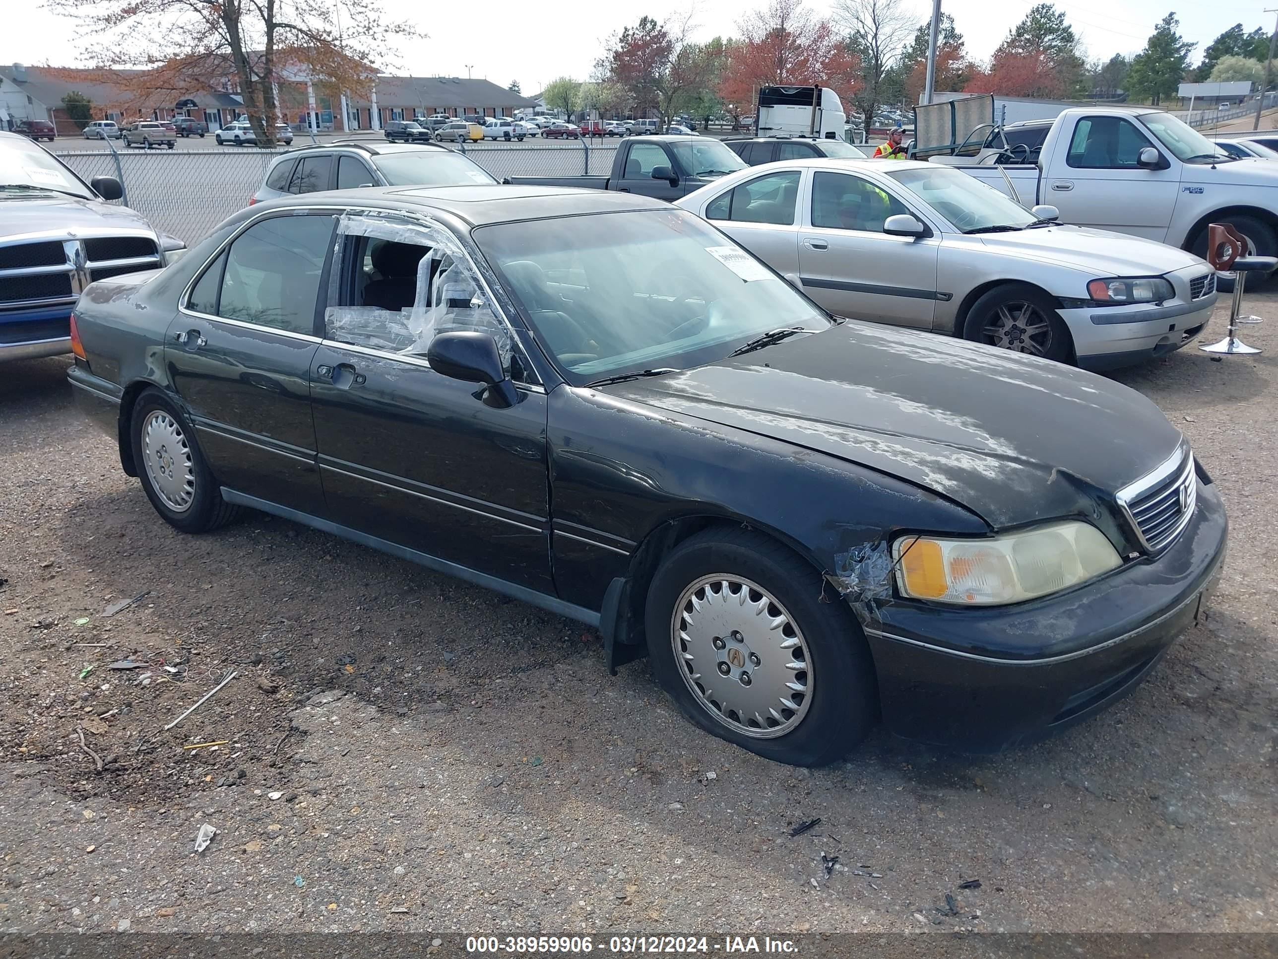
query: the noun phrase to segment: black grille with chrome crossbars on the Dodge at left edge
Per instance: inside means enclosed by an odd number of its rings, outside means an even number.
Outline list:
[[[93,280],[155,270],[164,262],[146,235],[31,239],[0,244],[0,307],[73,303]]]

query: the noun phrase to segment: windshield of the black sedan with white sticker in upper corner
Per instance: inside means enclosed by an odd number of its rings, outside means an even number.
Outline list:
[[[831,325],[682,210],[496,224],[474,239],[574,386],[712,363],[781,326]]]

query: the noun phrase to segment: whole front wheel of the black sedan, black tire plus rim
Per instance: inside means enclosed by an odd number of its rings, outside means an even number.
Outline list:
[[[831,602],[831,593],[815,566],[774,540],[739,527],[697,533],[665,559],[648,587],[653,673],[684,715],[712,735],[792,766],[833,762],[878,721],[878,680],[852,611],[837,595]],[[684,611],[703,604],[707,625],[693,632]],[[721,629],[740,642],[728,638],[721,647],[721,638],[705,635]],[[695,678],[698,660],[709,661],[717,682]],[[725,669],[730,675],[718,675]],[[781,699],[797,708],[778,711]],[[744,708],[755,715],[746,717]]]

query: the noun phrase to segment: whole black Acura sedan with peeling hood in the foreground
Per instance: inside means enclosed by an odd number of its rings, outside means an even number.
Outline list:
[[[658,201],[312,193],[92,284],[70,382],[156,511],[242,508],[597,625],[697,724],[814,765],[1131,690],[1226,547],[1139,394],[831,317]]]

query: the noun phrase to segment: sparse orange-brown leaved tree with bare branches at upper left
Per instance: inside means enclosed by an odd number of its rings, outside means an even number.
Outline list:
[[[309,79],[321,90],[367,96],[376,83],[373,64],[392,54],[396,41],[420,36],[386,17],[377,0],[46,0],[45,6],[93,37],[84,54],[92,74],[133,105],[160,97],[173,104],[229,82],[259,147],[275,144],[279,84]],[[128,110],[130,102],[120,106]]]

